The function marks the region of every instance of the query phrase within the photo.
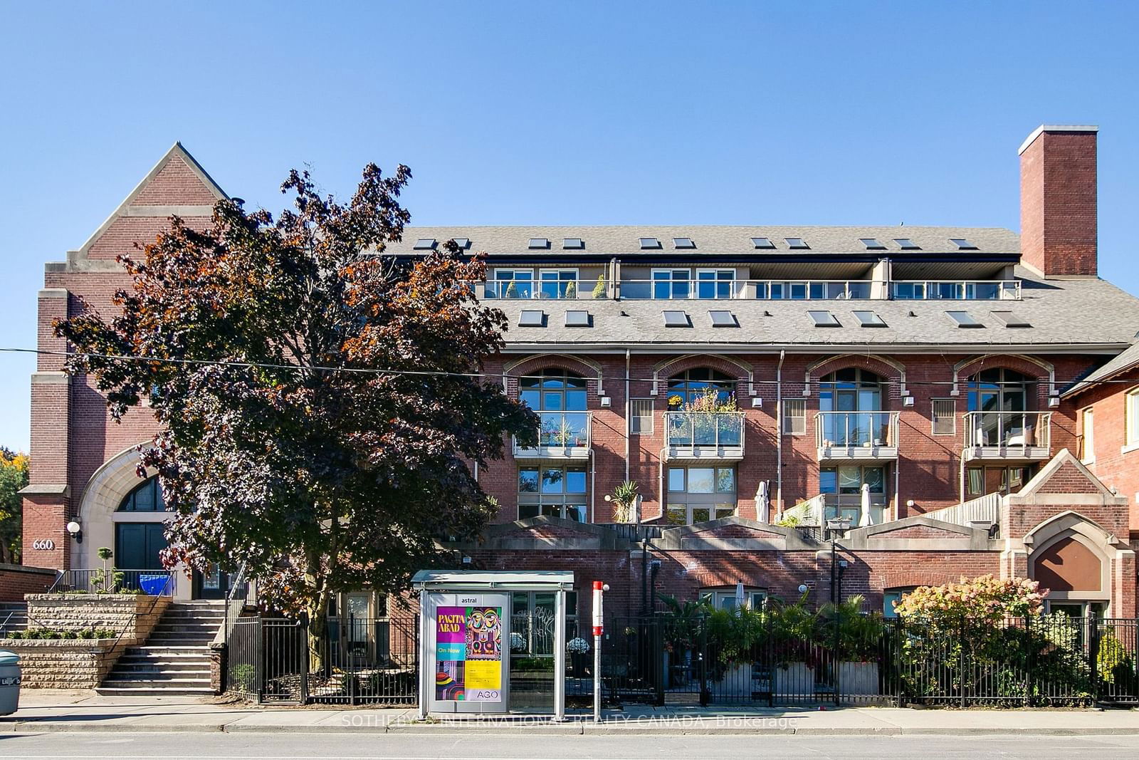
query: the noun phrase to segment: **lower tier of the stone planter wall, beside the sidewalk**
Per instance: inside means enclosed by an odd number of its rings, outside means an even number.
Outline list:
[[[0,649],[19,655],[24,688],[95,688],[125,647],[113,638],[0,638]]]

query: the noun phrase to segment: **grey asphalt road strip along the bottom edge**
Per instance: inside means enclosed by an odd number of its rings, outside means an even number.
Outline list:
[[[424,734],[0,734],[5,760],[687,760],[688,758],[975,758],[1139,755],[1139,736],[487,736]]]

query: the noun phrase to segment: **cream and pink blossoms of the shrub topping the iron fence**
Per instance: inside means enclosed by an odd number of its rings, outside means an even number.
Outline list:
[[[894,603],[902,618],[970,618],[997,622],[1006,618],[1027,618],[1043,611],[1048,589],[1027,578],[1000,580],[980,575],[973,580],[965,575],[957,583],[921,586]]]

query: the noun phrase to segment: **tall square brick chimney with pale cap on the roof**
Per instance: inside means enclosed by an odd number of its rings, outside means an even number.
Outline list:
[[[1021,145],[1021,262],[1046,277],[1096,275],[1098,131],[1043,124]]]

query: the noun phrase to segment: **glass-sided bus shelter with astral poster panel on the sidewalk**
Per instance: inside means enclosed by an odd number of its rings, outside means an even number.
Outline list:
[[[572,572],[421,570],[411,585],[419,591],[420,718],[565,718]]]

